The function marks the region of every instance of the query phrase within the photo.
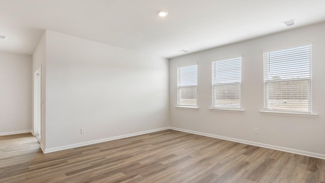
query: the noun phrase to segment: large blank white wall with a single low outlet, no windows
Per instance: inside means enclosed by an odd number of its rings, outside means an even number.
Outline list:
[[[46,31],[46,148],[168,127],[168,71],[168,59]]]

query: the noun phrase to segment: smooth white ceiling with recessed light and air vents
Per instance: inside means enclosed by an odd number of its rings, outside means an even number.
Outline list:
[[[324,0],[1,0],[0,50],[32,54],[44,29],[171,58],[325,21]],[[167,17],[157,11],[167,10]],[[296,19],[294,27],[283,21]]]

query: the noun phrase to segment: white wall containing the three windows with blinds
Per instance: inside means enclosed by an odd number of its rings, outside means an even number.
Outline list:
[[[322,154],[325,158],[325,23],[170,60],[170,126]],[[263,50],[312,42],[312,108],[317,118],[262,115]],[[211,112],[211,61],[242,55],[244,113]],[[176,68],[198,63],[199,110],[176,109]],[[259,128],[259,134],[254,134]]]

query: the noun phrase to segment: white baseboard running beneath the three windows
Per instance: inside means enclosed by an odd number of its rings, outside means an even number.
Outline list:
[[[170,127],[170,129],[180,131],[180,132],[187,132],[187,133],[191,133],[191,134],[197,134],[197,135],[217,138],[217,139],[223,139],[223,140],[229,140],[229,141],[233,141],[233,142],[239,142],[239,143],[243,143],[243,144],[249,144],[249,145],[255,145],[255,146],[259,146],[259,147],[265,147],[265,148],[270,148],[270,149],[275,149],[275,150],[281,150],[281,151],[285,151],[287,153],[294,153],[294,154],[298,154],[298,155],[304,155],[304,156],[309,156],[309,157],[314,157],[314,158],[319,158],[319,159],[325,159],[325,155],[323,155],[323,154],[312,153],[312,152],[304,151],[304,150],[292,149],[292,148],[281,147],[281,146],[270,145],[270,144],[264,144],[264,143],[259,143],[259,142],[252,142],[252,141],[248,141],[248,140],[241,140],[241,139],[236,139],[236,138],[231,138],[231,137],[224,137],[224,136],[213,135],[213,134],[202,133],[202,132],[191,131],[191,130],[185,130],[185,129],[175,128],[175,127]]]

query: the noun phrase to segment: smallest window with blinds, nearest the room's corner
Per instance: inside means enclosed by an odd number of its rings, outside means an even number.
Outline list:
[[[198,65],[177,68],[177,105],[197,106]]]

